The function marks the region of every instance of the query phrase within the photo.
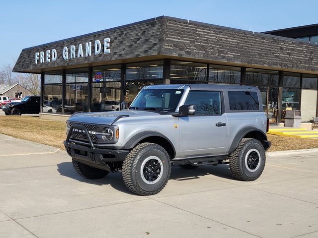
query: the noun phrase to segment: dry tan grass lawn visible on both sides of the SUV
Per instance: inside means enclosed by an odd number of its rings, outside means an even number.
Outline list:
[[[37,117],[0,116],[0,133],[65,149],[65,122]],[[317,139],[284,137],[267,134],[271,141],[268,151],[318,148]]]

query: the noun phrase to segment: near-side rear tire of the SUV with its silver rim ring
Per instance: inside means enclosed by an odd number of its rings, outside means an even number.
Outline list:
[[[259,157],[258,154],[260,155],[259,161],[257,163],[258,167],[255,168],[255,171],[249,171],[251,169],[248,168],[247,164],[245,163],[245,160],[247,161],[249,158],[247,156],[249,151],[251,151],[249,154],[254,153],[256,157]],[[256,151],[258,154],[256,154]],[[236,179],[243,181],[253,181],[258,179],[262,174],[265,167],[265,161],[265,150],[260,141],[252,138],[243,138],[239,142],[239,146],[236,148],[236,150],[230,154],[231,173]]]

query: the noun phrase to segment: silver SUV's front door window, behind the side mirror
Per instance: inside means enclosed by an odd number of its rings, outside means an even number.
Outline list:
[[[190,91],[186,105],[195,105],[195,115],[221,115],[221,92]]]

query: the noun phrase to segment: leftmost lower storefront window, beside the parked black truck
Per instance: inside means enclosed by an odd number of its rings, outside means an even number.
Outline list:
[[[42,112],[62,114],[62,84],[43,85]]]

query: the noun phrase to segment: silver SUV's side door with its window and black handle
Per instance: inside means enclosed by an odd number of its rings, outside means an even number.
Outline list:
[[[225,153],[228,119],[222,114],[221,92],[190,91],[185,105],[195,105],[195,115],[179,117],[180,157]]]

